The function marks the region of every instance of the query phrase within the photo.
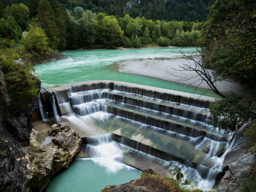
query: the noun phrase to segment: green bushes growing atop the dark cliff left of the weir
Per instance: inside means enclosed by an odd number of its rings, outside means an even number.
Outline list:
[[[17,63],[10,58],[0,55],[0,67],[7,82],[11,98],[10,107],[27,107],[34,98],[38,98],[38,77],[34,76],[35,69],[29,63]]]

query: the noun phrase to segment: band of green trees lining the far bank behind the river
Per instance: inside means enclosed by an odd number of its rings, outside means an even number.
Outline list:
[[[199,37],[196,29],[200,28],[201,23],[198,21],[146,20],[141,15],[132,18],[129,14],[125,14],[122,18],[119,15],[108,16],[108,14],[102,12],[98,12],[96,15],[87,9],[88,4],[78,6],[79,3],[74,2],[75,4],[76,6],[72,8],[74,12],[66,10],[65,6],[59,4],[56,0],[52,0],[50,3],[47,0],[41,0],[40,2],[31,0],[28,4],[29,10],[22,3],[12,4],[6,10],[9,15],[14,15],[16,21],[11,16],[9,16],[8,22],[5,19],[1,20],[1,23],[3,23],[0,26],[1,41],[5,41],[7,46],[19,42],[22,37],[21,30],[17,28],[15,22],[18,21],[19,25],[23,22],[25,28],[29,29],[26,27],[28,14],[30,18],[33,17],[29,24],[40,26],[44,30],[48,38],[45,39],[45,45],[48,45],[51,49],[93,48],[95,46],[102,48],[116,48],[117,46],[139,48],[157,45],[192,46],[193,41]],[[97,1],[97,4],[101,3]],[[90,7],[94,7],[93,2]],[[19,34],[17,34],[15,27]],[[177,29],[179,29],[179,33],[175,34]],[[46,51],[45,45],[41,49],[39,44],[36,47],[28,40],[28,36],[24,35],[22,43],[26,45],[25,49],[28,52],[32,52],[31,50],[34,48],[38,54]]]

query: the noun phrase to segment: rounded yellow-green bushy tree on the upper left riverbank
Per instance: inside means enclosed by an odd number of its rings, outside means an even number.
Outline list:
[[[24,45],[25,51],[37,54],[46,54],[49,52],[48,38],[46,37],[44,30],[38,26],[29,26],[29,32],[22,38],[21,44]]]

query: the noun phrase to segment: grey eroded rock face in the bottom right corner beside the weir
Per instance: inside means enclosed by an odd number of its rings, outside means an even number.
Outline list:
[[[252,170],[256,168],[255,165],[255,154],[243,154],[235,162],[229,165],[229,170],[225,172],[225,175],[218,185],[217,191],[239,191],[241,183],[252,174]]]

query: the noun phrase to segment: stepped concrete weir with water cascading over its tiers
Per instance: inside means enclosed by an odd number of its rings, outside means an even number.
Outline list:
[[[234,133],[218,131],[209,122],[208,107],[215,98],[107,80],[44,89],[39,95],[42,119],[67,121],[84,137],[78,157],[97,156],[95,146],[116,142],[125,154],[119,161],[166,176],[179,167],[183,185],[194,180],[193,185],[207,190],[223,176]]]

